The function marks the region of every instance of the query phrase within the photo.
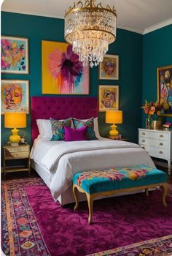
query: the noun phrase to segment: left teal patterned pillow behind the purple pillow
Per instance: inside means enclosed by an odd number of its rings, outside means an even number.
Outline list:
[[[71,127],[72,118],[60,121],[55,119],[50,119],[52,126],[52,138],[51,141],[64,140],[65,130],[64,127]]]

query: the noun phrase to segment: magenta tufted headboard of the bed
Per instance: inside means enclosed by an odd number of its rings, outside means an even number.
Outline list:
[[[95,97],[31,97],[32,140],[39,135],[36,119],[80,119],[98,116]]]

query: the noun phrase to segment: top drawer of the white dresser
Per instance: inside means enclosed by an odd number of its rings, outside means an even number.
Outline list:
[[[169,140],[169,134],[166,132],[154,132],[151,130],[139,130],[139,138],[152,138],[152,139],[160,139],[160,140]]]

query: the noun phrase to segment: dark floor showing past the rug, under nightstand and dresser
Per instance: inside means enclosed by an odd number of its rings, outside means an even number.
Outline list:
[[[165,171],[165,173],[168,173],[168,169],[166,167],[158,166],[157,169]],[[31,176],[30,178],[39,177],[39,175],[36,173],[36,170],[31,170]],[[15,178],[29,178],[28,172],[18,172],[18,173],[6,173],[6,179],[15,179]],[[4,174],[1,173],[1,181],[4,180]],[[172,184],[172,170],[171,175],[168,175],[168,183]]]

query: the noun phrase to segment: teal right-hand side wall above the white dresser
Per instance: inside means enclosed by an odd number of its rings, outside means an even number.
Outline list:
[[[143,86],[144,100],[157,100],[157,67],[172,65],[172,25],[157,29],[143,38]],[[166,118],[172,121],[171,118]],[[145,126],[145,115],[142,111],[142,127]]]

